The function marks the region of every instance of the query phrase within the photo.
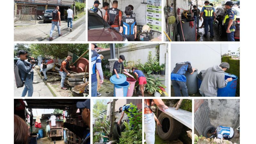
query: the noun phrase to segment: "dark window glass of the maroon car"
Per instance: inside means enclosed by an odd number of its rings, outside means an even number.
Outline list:
[[[97,28],[104,28],[104,24],[105,24],[105,28],[109,28],[110,26],[108,25],[108,23],[103,20],[100,16],[96,16],[96,15],[88,15],[88,29],[97,29]],[[104,21],[104,24],[103,24]]]

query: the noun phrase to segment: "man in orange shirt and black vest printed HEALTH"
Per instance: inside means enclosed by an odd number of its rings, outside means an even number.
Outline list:
[[[113,1],[112,8],[108,9],[105,14],[105,21],[107,21],[112,28],[115,28],[119,32],[122,21],[122,12],[117,9],[117,6],[118,2],[116,0]]]

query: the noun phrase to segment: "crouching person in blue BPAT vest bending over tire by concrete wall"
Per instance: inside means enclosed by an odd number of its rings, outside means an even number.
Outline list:
[[[210,129],[211,133],[217,135],[218,139],[230,140],[234,137],[235,133],[232,127],[218,126],[216,129],[212,127]]]

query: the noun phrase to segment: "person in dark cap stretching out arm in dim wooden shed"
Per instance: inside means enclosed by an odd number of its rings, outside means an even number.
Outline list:
[[[91,101],[90,99],[85,101],[79,101],[76,103],[76,107],[82,110],[82,120],[84,124],[86,124],[85,127],[78,126],[75,124],[70,123],[64,123],[63,126],[66,127],[71,132],[75,133],[77,136],[79,136],[82,139],[81,144],[90,144],[90,125],[91,125]]]

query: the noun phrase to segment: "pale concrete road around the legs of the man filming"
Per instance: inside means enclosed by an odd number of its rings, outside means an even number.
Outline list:
[[[53,97],[51,91],[44,84],[43,80],[38,76],[37,72],[34,72],[33,87],[34,87],[34,92],[32,97]],[[14,80],[14,97],[20,97],[23,89],[24,87],[17,88]]]

